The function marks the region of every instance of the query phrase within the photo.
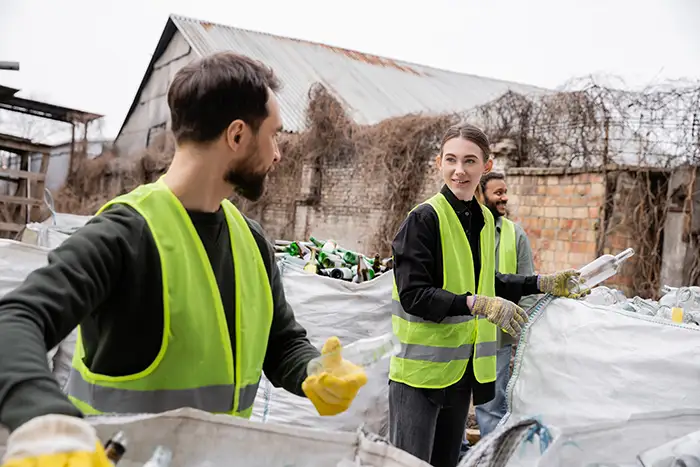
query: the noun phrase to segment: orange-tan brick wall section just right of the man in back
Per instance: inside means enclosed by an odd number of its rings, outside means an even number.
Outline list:
[[[507,182],[510,216],[528,234],[538,272],[580,268],[598,256],[600,242],[602,254],[631,247],[637,254],[604,285],[636,293],[639,238],[645,233],[635,231],[628,214],[637,183],[630,171],[514,168],[507,170]]]

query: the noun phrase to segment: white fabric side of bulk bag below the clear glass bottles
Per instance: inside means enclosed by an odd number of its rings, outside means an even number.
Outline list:
[[[551,296],[533,311],[504,423],[565,428],[700,409],[700,327]]]

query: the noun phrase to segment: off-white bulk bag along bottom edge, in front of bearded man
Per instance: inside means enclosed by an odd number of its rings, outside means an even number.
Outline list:
[[[117,431],[124,431],[127,451],[119,467],[143,466],[158,445],[172,450],[171,467],[430,467],[359,431],[333,433],[263,424],[194,409],[88,420],[103,442]],[[0,451],[6,440],[3,430]]]

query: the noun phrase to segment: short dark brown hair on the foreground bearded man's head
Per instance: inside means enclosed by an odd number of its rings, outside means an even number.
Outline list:
[[[268,116],[268,88],[280,88],[272,69],[233,52],[216,53],[186,65],[168,89],[175,140],[208,143],[237,119],[257,132]]]

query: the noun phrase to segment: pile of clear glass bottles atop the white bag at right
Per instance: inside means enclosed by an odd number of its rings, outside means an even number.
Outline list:
[[[619,290],[598,286],[591,289],[585,300],[596,305],[615,306],[642,315],[700,326],[700,287],[664,286],[661,294],[659,301],[627,298]]]

